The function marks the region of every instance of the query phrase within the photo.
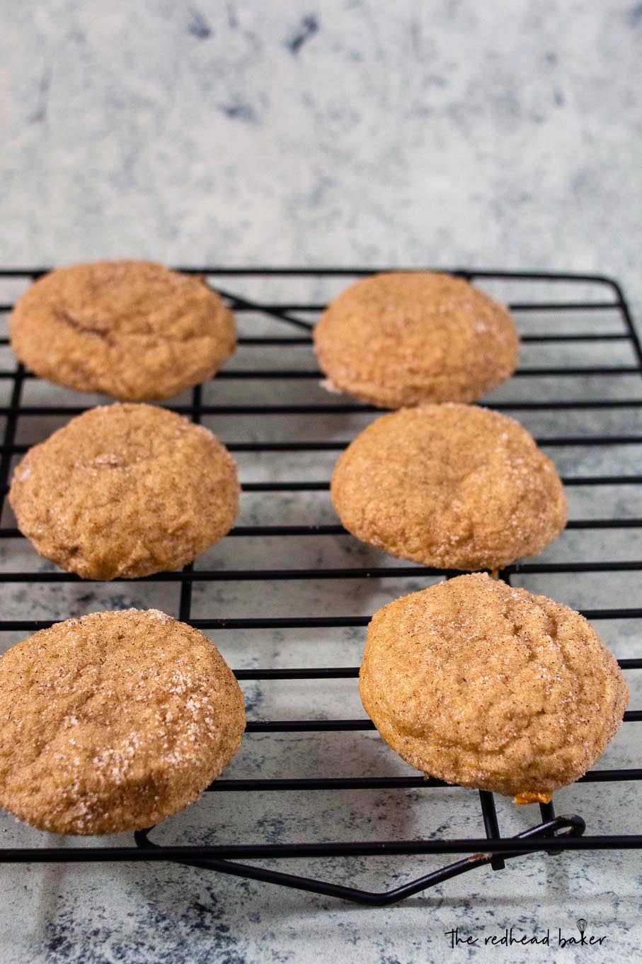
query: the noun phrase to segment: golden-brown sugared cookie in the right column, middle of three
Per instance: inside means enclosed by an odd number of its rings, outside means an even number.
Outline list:
[[[377,418],[337,462],[331,494],[357,539],[438,569],[500,569],[566,522],[559,477],[526,429],[469,405]]]

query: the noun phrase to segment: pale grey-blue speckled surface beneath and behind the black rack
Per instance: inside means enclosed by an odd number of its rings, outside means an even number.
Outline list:
[[[153,256],[167,263],[355,263],[567,268],[603,271],[642,298],[636,234],[642,96],[635,74],[642,6],[526,0],[420,5],[294,0],[179,5],[53,0],[0,11],[6,99],[0,186],[5,263],[64,263],[91,256]],[[221,281],[222,285],[222,281]],[[226,280],[248,297],[324,300],[321,281]],[[17,293],[3,285],[0,301]],[[518,300],[510,286],[489,287]],[[523,300],[534,292],[520,289]],[[536,294],[536,293],[535,293]],[[559,292],[573,298],[575,289]],[[584,295],[582,294],[582,297]],[[587,298],[603,297],[589,288]],[[608,310],[582,328],[618,331]],[[529,312],[524,332],[577,330],[578,317]],[[4,324],[4,321],[3,321]],[[242,334],[282,334],[252,313]],[[3,333],[4,334],[4,333]],[[297,334],[292,330],[291,334]],[[525,365],[628,364],[625,342],[529,343]],[[13,365],[0,347],[0,367]],[[229,369],[314,368],[309,347],[245,346]],[[0,404],[8,400],[0,382]],[[491,400],[642,398],[635,376],[511,380]],[[221,380],[210,404],[322,401],[315,381]],[[180,400],[187,401],[189,396]],[[27,404],[92,404],[38,381]],[[640,410],[521,411],[539,436],[642,431]],[[349,439],[372,415],[208,416],[226,442]],[[4,420],[3,420],[4,421]],[[64,418],[21,418],[18,442],[39,442]],[[0,425],[3,428],[4,425]],[[639,446],[553,446],[565,474],[639,471]],[[242,481],[327,479],[336,453],[239,453]],[[569,488],[570,518],[640,518],[642,487]],[[336,522],[324,492],[246,494],[241,524]],[[6,511],[4,525],[13,524]],[[574,529],[546,549],[551,561],[642,556],[640,530]],[[235,538],[197,568],[386,565],[347,536]],[[193,615],[367,615],[425,580],[215,581],[193,592]],[[47,571],[22,540],[0,542],[0,570]],[[525,575],[515,579],[576,607],[639,605],[639,573]],[[57,619],[110,607],[178,614],[173,583],[0,583],[4,619]],[[616,656],[642,655],[639,621],[601,622]],[[7,647],[24,634],[3,633]],[[220,630],[236,669],[354,666],[364,629]],[[642,685],[627,673],[631,707]],[[356,682],[244,683],[254,719],[357,717]],[[640,766],[642,724],[625,724],[599,766]],[[372,733],[252,734],[226,776],[403,775],[412,772]],[[639,784],[584,784],[555,794],[592,833],[636,833]],[[537,822],[535,807],[497,798],[501,831]],[[475,791],[360,790],[209,793],[155,832],[167,843],[385,840],[482,836]],[[127,835],[99,845],[129,844]],[[77,846],[0,815],[0,845]],[[81,844],[82,845],[82,844]],[[450,858],[446,858],[449,860]],[[452,858],[455,859],[455,858]],[[279,864],[323,879],[383,890],[435,869],[441,857],[380,857]],[[275,864],[270,866],[276,866]],[[642,943],[639,854],[529,856],[474,870],[396,907],[336,900],[163,864],[0,866],[0,960],[49,962],[308,962],[420,964],[472,959],[624,961]],[[603,945],[557,946],[562,936]],[[484,946],[514,936],[551,946]],[[450,949],[452,928],[476,937]]]

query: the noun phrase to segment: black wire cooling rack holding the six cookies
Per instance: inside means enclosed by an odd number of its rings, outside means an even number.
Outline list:
[[[35,280],[44,269],[5,270],[0,272],[0,282],[15,282],[24,285]],[[270,416],[292,417],[305,416],[307,424],[312,427],[317,424],[316,419],[324,415],[360,415],[372,414],[377,410],[372,406],[352,402],[346,396],[334,397],[317,392],[319,400],[315,399],[315,392],[304,394],[301,400],[294,392],[295,401],[283,401],[279,398],[276,404],[266,401],[265,392],[257,391],[257,387],[270,383],[281,386],[306,385],[306,380],[318,382],[321,374],[315,367],[297,368],[287,365],[284,367],[270,367],[260,365],[247,367],[244,357],[248,349],[259,349],[269,357],[270,352],[283,352],[284,360],[290,359],[289,351],[299,348],[308,354],[307,362],[312,362],[311,330],[316,317],[325,307],[326,299],[311,299],[309,292],[327,291],[328,285],[334,293],[357,277],[371,274],[371,270],[360,269],[219,269],[212,267],[183,269],[192,274],[202,274],[217,288],[240,319],[258,318],[270,319],[270,322],[282,326],[279,334],[244,335],[239,339],[239,352],[233,364],[228,365],[218,373],[216,386],[221,386],[226,380],[235,384],[245,385],[246,392],[242,402],[233,403],[223,399],[223,402],[208,402],[204,397],[207,387],[193,388],[187,400],[178,400],[175,404],[168,403],[177,412],[188,415],[194,421],[202,421],[209,416],[251,415],[255,418],[255,441],[230,442],[231,451],[237,453],[293,453],[293,452],[338,452],[346,447],[349,440],[311,439],[272,439],[261,438],[262,426],[267,424]],[[517,395],[508,395],[504,390],[499,393],[499,400],[492,396],[484,404],[501,410],[510,411],[520,417],[527,413],[541,413],[552,415],[556,431],[548,437],[538,437],[538,442],[545,448],[578,449],[598,447],[605,452],[620,451],[620,446],[642,443],[642,435],[615,433],[613,431],[595,432],[582,431],[580,434],[566,434],[564,432],[565,417],[581,413],[608,414],[609,412],[622,415],[620,422],[625,424],[633,414],[637,415],[642,409],[642,392],[639,379],[642,376],[642,349],[635,334],[629,308],[622,290],[616,281],[598,275],[569,275],[542,274],[530,272],[488,272],[457,270],[452,272],[460,277],[475,281],[495,293],[494,286],[500,290],[510,292],[510,307],[518,324],[523,328],[522,340],[525,349],[530,346],[544,347],[552,351],[551,365],[523,365],[516,372],[515,379],[510,385],[519,383],[526,385],[526,390],[518,390]],[[501,287],[503,285],[503,288]],[[289,288],[289,286],[292,286]],[[246,293],[259,290],[259,295]],[[296,298],[289,301],[274,301],[270,292],[278,288],[295,291]],[[239,291],[243,289],[244,293]],[[300,297],[300,291],[305,290],[305,297]],[[590,292],[590,294],[589,294]],[[597,292],[597,297],[596,297]],[[0,305],[0,311],[7,315],[13,305],[10,301]],[[526,324],[528,317],[544,319],[541,331],[532,331]],[[557,319],[563,319],[563,324]],[[606,321],[602,324],[601,320]],[[548,322],[547,322],[548,319]],[[521,324],[524,322],[525,324]],[[526,330],[525,330],[526,329]],[[259,331],[263,331],[261,326]],[[250,328],[251,331],[251,328]],[[0,338],[0,346],[7,346],[8,338]],[[600,363],[574,363],[574,354],[579,348],[594,347],[598,351]],[[55,416],[65,420],[85,410],[82,405],[69,404],[30,404],[25,399],[25,387],[33,378],[22,365],[15,364],[9,355],[9,349],[0,349],[7,353],[9,366],[0,370],[0,387],[6,388],[7,404],[0,407],[0,415],[4,416],[4,438],[0,449],[0,500],[5,511],[0,525],[0,539],[19,539],[20,534],[13,524],[7,522],[8,508],[4,506],[8,483],[15,461],[29,447],[27,442],[20,442],[20,426],[24,419],[34,417]],[[614,351],[614,354],[613,354]],[[590,354],[590,353],[589,353]],[[559,360],[562,360],[562,364]],[[624,363],[623,363],[624,362]],[[583,380],[584,390],[565,389],[572,384],[578,386]],[[526,381],[524,381],[526,380]],[[570,382],[569,382],[570,380]],[[310,386],[307,381],[307,385]],[[560,390],[552,390],[552,386],[559,386]],[[608,386],[608,390],[601,389]],[[317,388],[314,386],[314,388]],[[506,387],[504,387],[506,388]],[[630,390],[629,390],[630,388]],[[565,393],[566,392],[566,393]],[[281,392],[283,394],[283,392]],[[300,389],[299,389],[300,394]],[[309,397],[306,397],[306,394]],[[581,397],[578,397],[581,395]],[[83,396],[74,396],[81,398]],[[287,396],[286,396],[287,397]],[[72,398],[73,400],[73,398]],[[54,402],[56,398],[54,397]],[[637,410],[637,411],[636,411]],[[218,431],[218,429],[217,429]],[[45,433],[46,434],[46,433]],[[222,433],[221,433],[222,434]],[[311,431],[311,435],[316,433]],[[318,434],[318,433],[317,433]],[[354,434],[352,432],[352,434]],[[322,435],[322,430],[321,430]],[[554,456],[554,453],[552,453]],[[312,456],[311,456],[312,457]],[[270,454],[267,455],[270,460]],[[269,465],[269,461],[268,461]],[[609,461],[609,466],[613,461]],[[268,473],[269,474],[269,473]],[[276,473],[278,474],[278,473]],[[622,473],[602,471],[581,471],[565,474],[562,478],[569,492],[577,487],[589,487],[598,494],[605,491],[603,487],[622,486],[627,493],[635,492],[635,487],[642,485],[642,475],[631,474],[624,470]],[[326,492],[329,488],[327,478],[298,478],[293,481],[282,481],[279,478],[265,478],[258,481],[244,481],[244,493],[314,493]],[[639,490],[637,490],[639,492]],[[642,527],[642,519],[635,518],[630,511],[613,510],[612,518],[572,519],[568,529],[626,529]],[[297,524],[278,525],[238,525],[231,536],[271,537],[275,540],[288,540],[291,537],[314,539],[319,536],[341,537],[349,539],[347,533],[338,524],[313,524],[301,520]],[[295,555],[294,555],[295,559]],[[198,568],[198,564],[185,567],[180,572],[162,573],[149,576],[147,582],[173,583],[179,587],[179,602],[177,615],[181,620],[191,623],[203,630],[285,630],[285,629],[335,629],[335,628],[364,628],[368,625],[369,617],[364,615],[343,616],[334,614],[287,616],[287,617],[259,617],[226,618],[223,614],[217,617],[193,618],[193,590],[204,583],[217,581],[247,582],[250,585],[256,581],[281,580],[386,580],[401,574],[404,577],[416,577],[429,581],[434,577],[452,576],[454,573],[428,569],[420,566],[403,566],[384,557],[385,565],[357,568],[357,567],[327,567],[296,568],[295,561],[292,568],[256,569],[256,568]],[[510,582],[511,578],[528,574],[534,576],[566,574],[575,576],[582,573],[603,574],[603,579],[618,578],[617,574],[625,572],[636,573],[642,568],[638,561],[598,561],[590,562],[582,559],[571,562],[552,562],[537,558],[525,563],[509,566],[501,572],[501,577]],[[35,569],[35,567],[32,567]],[[31,589],[46,584],[77,582],[76,576],[57,570],[53,567],[38,571],[10,571],[0,574],[0,586],[7,583],[26,583]],[[601,623],[617,620],[637,620],[642,618],[641,607],[602,607],[582,610],[584,615],[593,621]],[[72,615],[71,612],[68,615]],[[60,618],[65,618],[64,616]],[[35,619],[1,619],[1,632],[29,632],[50,626],[53,620]],[[623,670],[642,668],[642,657],[620,659]],[[331,681],[341,679],[354,680],[358,676],[357,667],[318,667],[318,668],[250,668],[237,671],[240,681],[302,681],[321,680],[331,685]],[[356,686],[356,682],[354,683]],[[642,710],[629,710],[626,713],[627,723],[642,720]],[[247,725],[246,739],[252,734],[296,734],[296,733],[329,733],[372,730],[372,723],[365,719],[251,719]],[[613,783],[618,781],[634,781],[642,778],[642,768],[596,769],[587,773],[580,783]],[[218,793],[240,792],[250,794],[255,791],[290,791],[292,793],[307,794],[308,805],[311,810],[315,806],[315,790],[424,790],[425,788],[446,787],[439,780],[424,779],[420,775],[408,776],[363,776],[356,773],[348,777],[319,777],[309,776],[284,779],[265,778],[258,776],[253,779],[219,779],[210,790]],[[463,791],[461,791],[463,792]],[[6,847],[0,849],[0,862],[5,863],[57,863],[57,862],[109,862],[109,861],[168,861],[190,865],[205,870],[217,870],[221,873],[234,874],[255,880],[268,881],[304,891],[311,891],[321,895],[342,897],[361,903],[384,905],[393,903],[403,897],[409,897],[423,891],[425,888],[443,882],[466,870],[479,866],[490,865],[493,870],[501,870],[509,858],[525,856],[533,851],[547,851],[549,854],[559,855],[568,850],[598,850],[598,849],[630,849],[642,847],[640,834],[584,834],[585,822],[582,817],[555,816],[553,805],[540,805],[541,822],[522,831],[515,836],[502,837],[500,832],[495,799],[492,793],[480,791],[479,807],[485,829],[485,838],[445,839],[439,834],[427,835],[423,839],[395,840],[395,841],[360,841],[349,840],[341,843],[329,843],[325,840],[309,843],[257,843],[257,844],[216,844],[216,845],[165,845],[156,844],[151,838],[151,831],[141,831],[134,835],[132,845],[129,846],[95,846],[78,845],[72,848],[41,845],[38,847]],[[336,798],[336,797],[335,797]],[[339,806],[339,803],[337,804]],[[590,827],[589,827],[590,830]],[[554,838],[554,843],[552,842]],[[42,838],[45,839],[44,837]],[[321,879],[313,879],[295,873],[283,872],[274,868],[274,862],[279,859],[291,858],[363,858],[370,855],[390,856],[428,855],[428,854],[464,854],[463,859],[450,863],[439,870],[432,870],[419,877],[405,882],[403,885],[380,892],[366,891],[357,887],[345,886]],[[559,858],[558,858],[559,859]],[[246,860],[270,860],[270,867],[258,867],[244,863]]]

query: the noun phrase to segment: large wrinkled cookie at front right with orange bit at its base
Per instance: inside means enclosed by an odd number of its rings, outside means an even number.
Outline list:
[[[516,802],[549,800],[585,773],[629,700],[583,616],[479,573],[379,609],[359,688],[407,763]]]

